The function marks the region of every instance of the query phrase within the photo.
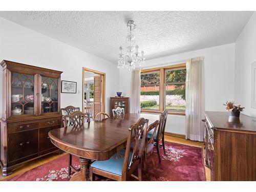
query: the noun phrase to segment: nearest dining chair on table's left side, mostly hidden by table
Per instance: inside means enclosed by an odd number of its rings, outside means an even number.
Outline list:
[[[69,126],[77,126],[77,125],[82,125],[87,117],[87,122],[90,122],[90,114],[89,113],[83,113],[81,111],[75,111],[74,113],[70,115],[65,115],[63,116],[63,123],[64,126],[68,126],[68,119],[70,120]],[[75,172],[79,172],[80,168],[75,168],[72,165],[72,155],[69,154],[69,176],[71,175],[71,169],[73,169]]]

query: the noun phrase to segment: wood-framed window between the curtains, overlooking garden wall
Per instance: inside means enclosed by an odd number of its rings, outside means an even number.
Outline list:
[[[185,115],[185,81],[185,63],[142,70],[141,112]]]

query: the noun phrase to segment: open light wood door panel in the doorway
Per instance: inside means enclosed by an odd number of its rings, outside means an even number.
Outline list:
[[[94,76],[94,116],[101,111],[101,75]],[[100,118],[100,117],[98,117]],[[98,120],[98,119],[95,119]]]

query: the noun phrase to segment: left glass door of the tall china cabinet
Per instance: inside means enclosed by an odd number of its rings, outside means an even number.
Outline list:
[[[34,114],[34,75],[11,73],[11,115]]]

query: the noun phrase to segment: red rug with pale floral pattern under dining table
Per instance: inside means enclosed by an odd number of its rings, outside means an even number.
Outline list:
[[[151,181],[205,181],[203,150],[201,147],[173,142],[165,142],[166,156],[160,148],[161,163],[155,153],[157,170],[148,158],[148,173]],[[74,166],[79,166],[78,158],[73,156]],[[142,172],[144,181],[146,175]],[[68,154],[45,163],[8,181],[69,181]],[[104,180],[104,179],[97,179]]]

